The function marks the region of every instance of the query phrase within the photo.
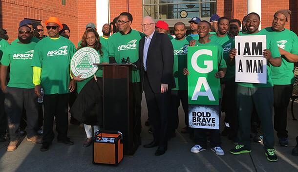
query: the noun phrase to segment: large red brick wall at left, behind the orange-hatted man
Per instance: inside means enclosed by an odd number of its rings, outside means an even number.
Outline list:
[[[71,30],[70,40],[78,42],[77,0],[66,0],[66,5],[61,0],[0,0],[0,8],[0,27],[7,30],[8,42],[18,37],[19,22],[24,18],[40,20],[45,26],[44,21],[52,16],[66,23]]]

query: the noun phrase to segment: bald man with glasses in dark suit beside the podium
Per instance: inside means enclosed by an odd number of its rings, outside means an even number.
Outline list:
[[[135,63],[141,72],[153,141],[145,148],[158,146],[156,156],[168,149],[168,118],[170,113],[170,90],[175,87],[173,77],[173,46],[166,34],[155,32],[155,23],[149,16],[142,21],[146,35],[139,43],[139,60]]]

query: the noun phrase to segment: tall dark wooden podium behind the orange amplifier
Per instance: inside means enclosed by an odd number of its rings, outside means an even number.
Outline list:
[[[124,154],[132,156],[137,147],[133,145],[133,107],[131,64],[97,64],[103,69],[104,129],[123,134]]]

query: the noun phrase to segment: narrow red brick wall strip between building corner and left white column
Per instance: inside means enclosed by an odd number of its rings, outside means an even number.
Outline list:
[[[78,0],[78,40],[82,39],[86,24],[93,22],[96,25],[96,0]],[[97,28],[101,32],[101,28]],[[75,44],[77,46],[77,44]]]

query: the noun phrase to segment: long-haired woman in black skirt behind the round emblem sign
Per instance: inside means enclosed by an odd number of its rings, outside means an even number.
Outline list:
[[[105,63],[105,58],[108,59],[107,54],[102,52],[99,35],[94,29],[89,28],[85,31],[80,45],[77,50],[83,47],[94,48],[100,54],[101,63]],[[83,147],[90,146],[93,141],[92,126],[94,132],[102,127],[102,76],[103,71],[101,69],[98,69],[94,76],[86,79],[82,79],[80,75],[73,75],[74,80],[77,81],[79,95],[70,112],[76,119],[84,123],[87,138]]]

